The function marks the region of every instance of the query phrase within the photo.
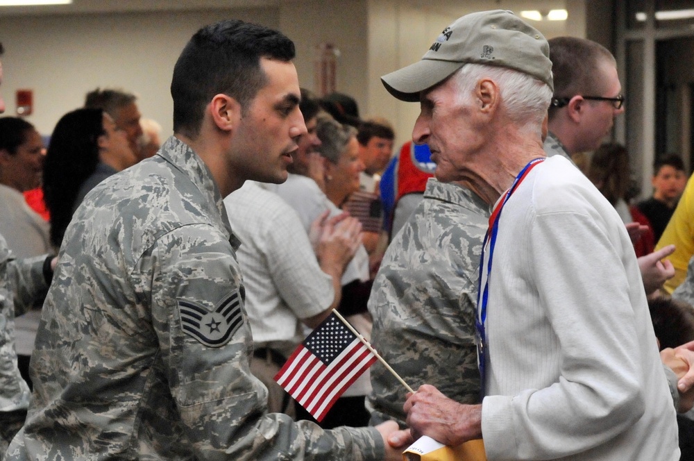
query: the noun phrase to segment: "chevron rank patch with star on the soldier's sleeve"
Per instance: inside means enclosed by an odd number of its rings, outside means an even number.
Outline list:
[[[180,328],[209,347],[221,347],[228,343],[244,321],[238,290],[219,301],[212,311],[199,303],[179,299],[178,312]]]

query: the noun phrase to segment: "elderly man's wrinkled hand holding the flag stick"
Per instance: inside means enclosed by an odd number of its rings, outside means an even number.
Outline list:
[[[403,407],[412,437],[428,435],[449,446],[482,438],[482,405],[463,405],[448,399],[431,385],[407,394]]]

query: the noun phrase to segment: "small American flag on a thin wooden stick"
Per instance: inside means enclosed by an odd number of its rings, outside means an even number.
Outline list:
[[[339,396],[368,369],[376,356],[335,314],[308,335],[275,380],[322,421]]]

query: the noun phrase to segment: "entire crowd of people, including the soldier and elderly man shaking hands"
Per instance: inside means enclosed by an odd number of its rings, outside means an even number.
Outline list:
[[[503,10],[436,40],[382,77],[421,106],[396,156],[387,120],[237,20],[185,45],[164,142],[122,90],[47,148],[1,117],[4,459],[400,460],[423,435],[490,461],[693,455],[682,159],[633,201],[600,44]],[[333,311],[384,363],[317,421],[274,377]]]

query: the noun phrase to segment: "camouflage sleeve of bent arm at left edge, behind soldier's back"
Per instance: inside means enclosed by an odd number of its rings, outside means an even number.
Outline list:
[[[43,265],[48,256],[8,261],[7,276],[15,301],[15,315],[22,315],[33,306],[40,305],[46,297],[48,284],[43,274]]]

